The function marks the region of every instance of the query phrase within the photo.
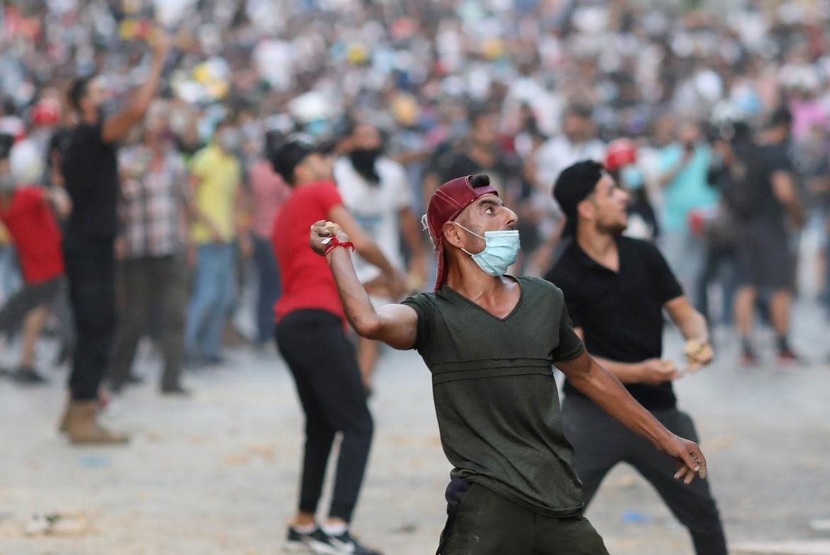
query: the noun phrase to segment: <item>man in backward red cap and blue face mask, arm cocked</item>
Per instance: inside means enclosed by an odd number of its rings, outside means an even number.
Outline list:
[[[352,327],[397,349],[417,349],[432,372],[442,446],[453,466],[438,553],[603,555],[602,538],[582,516],[554,363],[610,415],[673,457],[677,478],[688,484],[695,474],[705,477],[706,459],[588,356],[558,287],[505,275],[519,251],[516,224],[486,175],[443,184],[426,215],[438,258],[435,292],[378,310],[336,223],[314,223],[310,245],[325,255]]]

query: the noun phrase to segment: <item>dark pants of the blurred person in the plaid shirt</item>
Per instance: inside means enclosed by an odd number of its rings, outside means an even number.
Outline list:
[[[134,258],[121,264],[125,292],[112,353],[110,381],[123,386],[151,310],[160,309],[159,339],[164,356],[162,387],[178,386],[184,359],[184,312],[188,303],[187,268],[182,258]]]

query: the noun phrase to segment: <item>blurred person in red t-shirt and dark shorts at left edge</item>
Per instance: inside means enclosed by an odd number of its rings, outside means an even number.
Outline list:
[[[7,145],[8,141],[2,143]],[[21,361],[14,373],[15,379],[24,384],[46,381],[35,370],[34,359],[35,345],[49,307],[56,311],[61,324],[61,339],[65,343],[71,339],[61,230],[52,212],[54,206],[68,213],[68,204],[66,197],[57,191],[25,184],[27,177],[23,173],[37,173],[37,169],[30,171],[32,165],[27,164],[33,148],[26,142],[11,149],[0,146],[0,220],[12,237],[23,274],[22,289],[0,308],[0,333],[8,335],[24,322]],[[3,151],[11,154],[4,156]]]

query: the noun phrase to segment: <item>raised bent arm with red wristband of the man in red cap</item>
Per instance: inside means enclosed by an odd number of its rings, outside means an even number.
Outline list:
[[[328,244],[326,238],[336,237],[340,242],[348,242],[349,236],[335,226],[334,233],[325,228],[325,221],[320,220],[311,226],[310,246],[315,253],[323,254]],[[369,295],[354,273],[351,253],[348,248],[333,248],[325,255],[337,291],[343,301],[346,318],[354,331],[360,336],[375,341],[383,341],[396,349],[411,349],[417,336],[417,312],[402,304],[388,304],[375,310]]]

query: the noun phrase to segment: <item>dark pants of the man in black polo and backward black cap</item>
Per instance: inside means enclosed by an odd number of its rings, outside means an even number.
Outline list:
[[[670,409],[655,410],[653,414],[672,433],[697,441],[695,425],[686,413]],[[674,479],[674,460],[590,400],[566,397],[562,421],[565,436],[574,445],[574,462],[582,480],[586,507],[605,474],[615,464],[626,462],[657,489],[671,512],[689,529],[698,555],[726,555],[720,515],[707,480],[696,478],[686,485]]]

